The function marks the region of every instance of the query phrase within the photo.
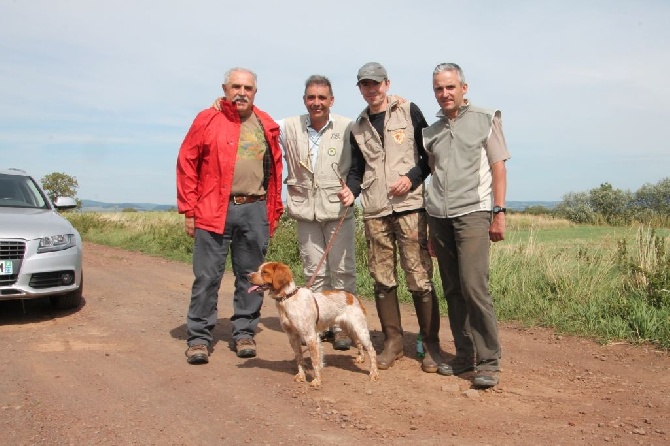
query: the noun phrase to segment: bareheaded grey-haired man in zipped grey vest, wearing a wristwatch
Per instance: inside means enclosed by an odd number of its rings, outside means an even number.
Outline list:
[[[500,110],[474,107],[463,98],[468,84],[461,67],[438,65],[433,91],[440,111],[423,131],[433,171],[426,210],[456,348],[456,357],[440,364],[438,373],[476,370],[474,385],[493,387],[501,349],[489,292],[489,249],[505,238],[510,154]]]

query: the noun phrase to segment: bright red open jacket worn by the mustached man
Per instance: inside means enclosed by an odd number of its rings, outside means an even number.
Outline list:
[[[284,212],[281,200],[282,160],[279,126],[254,106],[272,153],[267,190],[270,235]],[[223,234],[240,139],[240,117],[235,106],[221,101],[221,111],[209,108],[198,113],[177,157],[177,207],[180,214],[195,217],[195,227]]]

